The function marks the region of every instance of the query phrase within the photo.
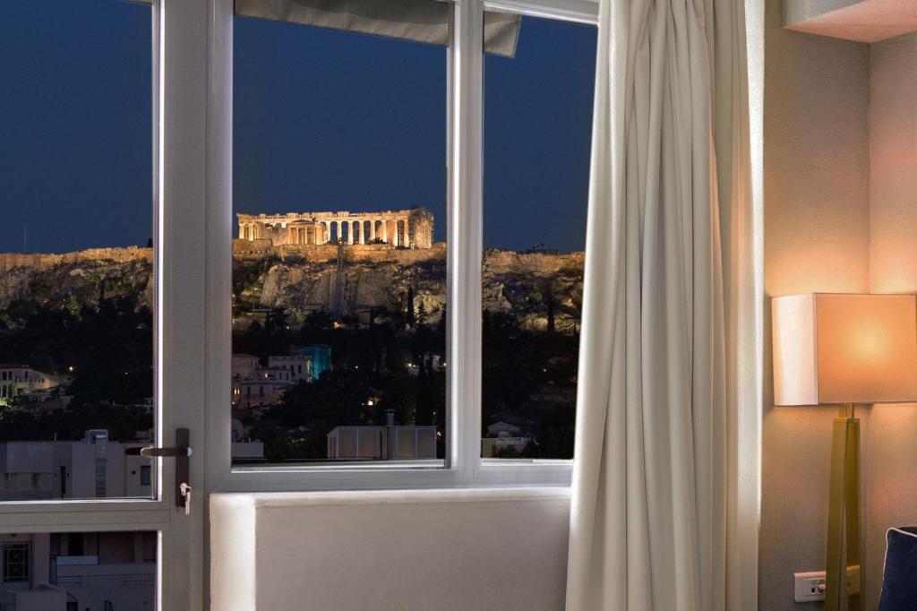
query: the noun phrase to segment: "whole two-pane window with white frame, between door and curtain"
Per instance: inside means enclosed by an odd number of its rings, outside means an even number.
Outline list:
[[[376,23],[425,4],[422,41]],[[218,486],[569,482],[595,15],[517,4],[315,28],[235,3],[231,113],[210,106],[232,127],[208,172]]]

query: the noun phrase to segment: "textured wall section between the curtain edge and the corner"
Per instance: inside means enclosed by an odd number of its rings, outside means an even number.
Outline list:
[[[783,29],[780,4],[765,30],[765,293],[864,292],[868,48]],[[793,602],[792,574],[823,569],[834,410],[770,407],[765,311],[759,608],[818,609]]]

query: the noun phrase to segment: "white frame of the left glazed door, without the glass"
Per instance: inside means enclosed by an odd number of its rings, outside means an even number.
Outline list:
[[[204,447],[204,112],[208,6],[151,0],[155,413],[158,446],[189,428]],[[203,452],[202,452],[203,454]],[[203,499],[190,516],[175,505],[174,461],[156,459],[155,496],[0,503],[2,533],[157,531],[157,608],[204,608]],[[204,461],[189,478],[204,488]],[[195,488],[196,490],[196,488]]]

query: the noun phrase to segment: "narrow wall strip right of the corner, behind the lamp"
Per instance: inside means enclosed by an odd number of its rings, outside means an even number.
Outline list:
[[[869,280],[917,293],[917,34],[870,49]],[[917,405],[876,405],[863,439],[867,592],[881,587],[885,531],[917,525]]]

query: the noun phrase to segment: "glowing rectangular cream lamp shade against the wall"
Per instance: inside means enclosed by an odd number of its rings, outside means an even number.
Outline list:
[[[788,295],[771,311],[775,405],[917,401],[914,295]]]

